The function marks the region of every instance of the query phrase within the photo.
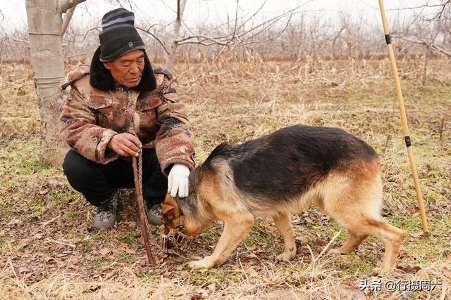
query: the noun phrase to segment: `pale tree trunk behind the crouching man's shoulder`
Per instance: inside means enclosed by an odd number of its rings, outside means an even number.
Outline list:
[[[83,0],[84,1],[84,0]],[[76,3],[75,3],[76,2]],[[78,1],[70,1],[75,6]],[[32,70],[41,117],[39,163],[60,166],[68,150],[61,141],[58,117],[63,106],[62,8],[58,0],[26,0]],[[70,8],[70,7],[69,7]],[[67,5],[64,11],[68,9]]]

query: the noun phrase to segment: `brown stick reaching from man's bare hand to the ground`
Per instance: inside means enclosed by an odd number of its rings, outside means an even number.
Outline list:
[[[133,177],[135,179],[136,201],[138,204],[138,211],[140,212],[141,232],[144,239],[144,247],[147,252],[147,259],[149,263],[155,263],[154,256],[149,244],[149,236],[147,235],[146,225],[146,213],[144,212],[144,200],[142,199],[142,150],[140,150],[140,156],[138,157],[138,166],[136,163],[136,157],[132,157],[133,165]]]

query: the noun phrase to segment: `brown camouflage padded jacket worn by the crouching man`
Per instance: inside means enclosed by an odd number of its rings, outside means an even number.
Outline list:
[[[89,63],[69,72],[61,84],[68,86],[60,116],[60,129],[70,148],[94,162],[107,164],[118,154],[106,149],[118,133],[135,134],[143,148],[155,148],[163,174],[171,164],[194,167],[193,135],[187,107],[179,102],[171,73],[154,66],[156,89],[138,92],[115,85],[112,91],[89,84]]]

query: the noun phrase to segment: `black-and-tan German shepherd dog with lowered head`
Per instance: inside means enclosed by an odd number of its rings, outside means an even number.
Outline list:
[[[161,219],[185,236],[224,222],[213,254],[190,268],[220,265],[249,232],[255,218],[271,216],[284,242],[278,261],[296,254],[291,214],[316,204],[348,230],[330,254],[348,254],[368,235],[385,244],[381,268],[400,252],[402,230],[381,218],[382,181],[376,152],[338,128],[295,125],[245,143],[218,145],[190,174],[190,195],[166,195]]]

